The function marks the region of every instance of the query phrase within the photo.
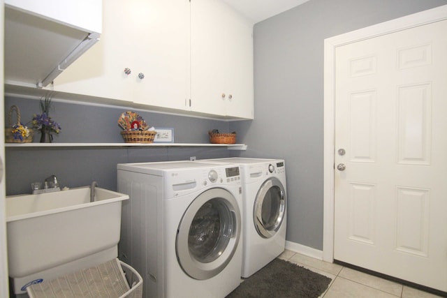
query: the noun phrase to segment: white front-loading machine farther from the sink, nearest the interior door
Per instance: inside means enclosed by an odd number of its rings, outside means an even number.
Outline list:
[[[286,245],[286,165],[282,159],[216,158],[199,162],[240,165],[242,176],[242,277],[277,258]]]

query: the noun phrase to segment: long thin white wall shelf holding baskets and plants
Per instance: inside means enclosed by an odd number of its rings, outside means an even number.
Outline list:
[[[228,150],[247,150],[246,144],[195,144],[195,143],[6,143],[5,147],[228,147]]]

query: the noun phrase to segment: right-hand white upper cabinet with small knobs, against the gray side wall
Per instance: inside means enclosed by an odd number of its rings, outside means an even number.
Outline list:
[[[191,0],[191,110],[253,119],[253,26],[219,0]]]

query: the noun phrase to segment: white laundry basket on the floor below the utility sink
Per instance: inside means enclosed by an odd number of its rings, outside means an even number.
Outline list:
[[[141,298],[142,278],[115,258],[101,265],[43,281],[27,288],[30,298]]]

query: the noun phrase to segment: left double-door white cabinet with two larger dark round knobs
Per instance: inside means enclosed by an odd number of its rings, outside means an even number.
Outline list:
[[[54,80],[54,90],[184,110],[188,12],[184,0],[104,1],[101,40]]]

